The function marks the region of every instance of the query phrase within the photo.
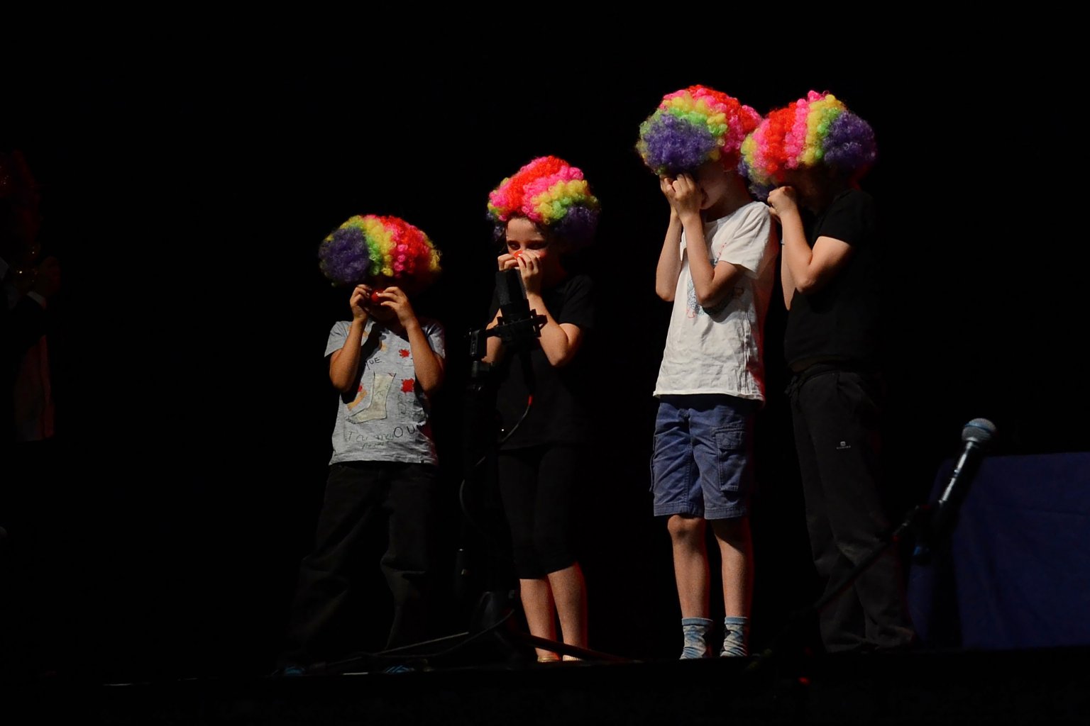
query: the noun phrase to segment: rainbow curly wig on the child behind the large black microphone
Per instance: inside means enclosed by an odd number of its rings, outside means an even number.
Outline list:
[[[581,170],[557,157],[538,157],[488,194],[497,239],[513,217],[525,217],[543,232],[579,246],[594,238],[598,200]]]

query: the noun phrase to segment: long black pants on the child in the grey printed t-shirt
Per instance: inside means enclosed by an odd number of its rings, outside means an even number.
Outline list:
[[[361,544],[386,528],[383,574],[393,595],[387,648],[427,637],[438,470],[427,464],[350,462],[329,467],[314,550],[302,562],[282,665],[308,665],[348,654],[353,574]],[[355,593],[359,595],[359,593]],[[350,628],[349,628],[350,629]]]

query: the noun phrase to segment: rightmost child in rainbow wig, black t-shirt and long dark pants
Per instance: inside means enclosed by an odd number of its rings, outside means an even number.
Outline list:
[[[875,153],[871,126],[815,91],[768,113],[742,144],[783,229],[795,445],[814,564],[828,588],[881,546],[888,524],[879,467],[881,237],[874,199],[859,186]],[[896,554],[859,575],[820,625],[831,652],[911,644]]]

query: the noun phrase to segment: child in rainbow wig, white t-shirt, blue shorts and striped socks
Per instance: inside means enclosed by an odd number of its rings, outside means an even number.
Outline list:
[[[669,223],[655,292],[674,304],[655,383],[653,512],[666,517],[681,608],[681,659],[716,654],[706,527],[723,568],[720,655],[748,653],[752,431],[764,402],[762,332],[778,253],[768,208],[738,171],[761,118],[704,86],[663,97],[637,150],[658,175]]]

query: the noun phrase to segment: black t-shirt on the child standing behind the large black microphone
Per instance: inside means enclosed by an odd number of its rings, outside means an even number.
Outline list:
[[[533,404],[526,418],[504,441],[501,448],[585,442],[591,433],[586,370],[588,333],[594,325],[591,279],[585,274],[568,275],[559,284],[542,291],[542,298],[557,323],[572,323],[583,330],[582,346],[576,357],[560,368],[549,365],[537,339],[529,342],[525,353],[518,352],[518,346],[506,347],[497,366],[496,409],[502,428],[500,439],[522,417],[531,394]],[[497,310],[498,291],[493,293],[489,320]],[[542,315],[543,311],[536,310],[536,313]]]

